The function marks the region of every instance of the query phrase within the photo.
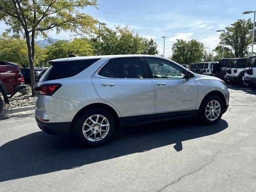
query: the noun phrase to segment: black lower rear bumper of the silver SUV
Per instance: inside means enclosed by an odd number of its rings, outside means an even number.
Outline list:
[[[36,117],[38,127],[50,135],[69,135],[71,122],[46,123]]]

